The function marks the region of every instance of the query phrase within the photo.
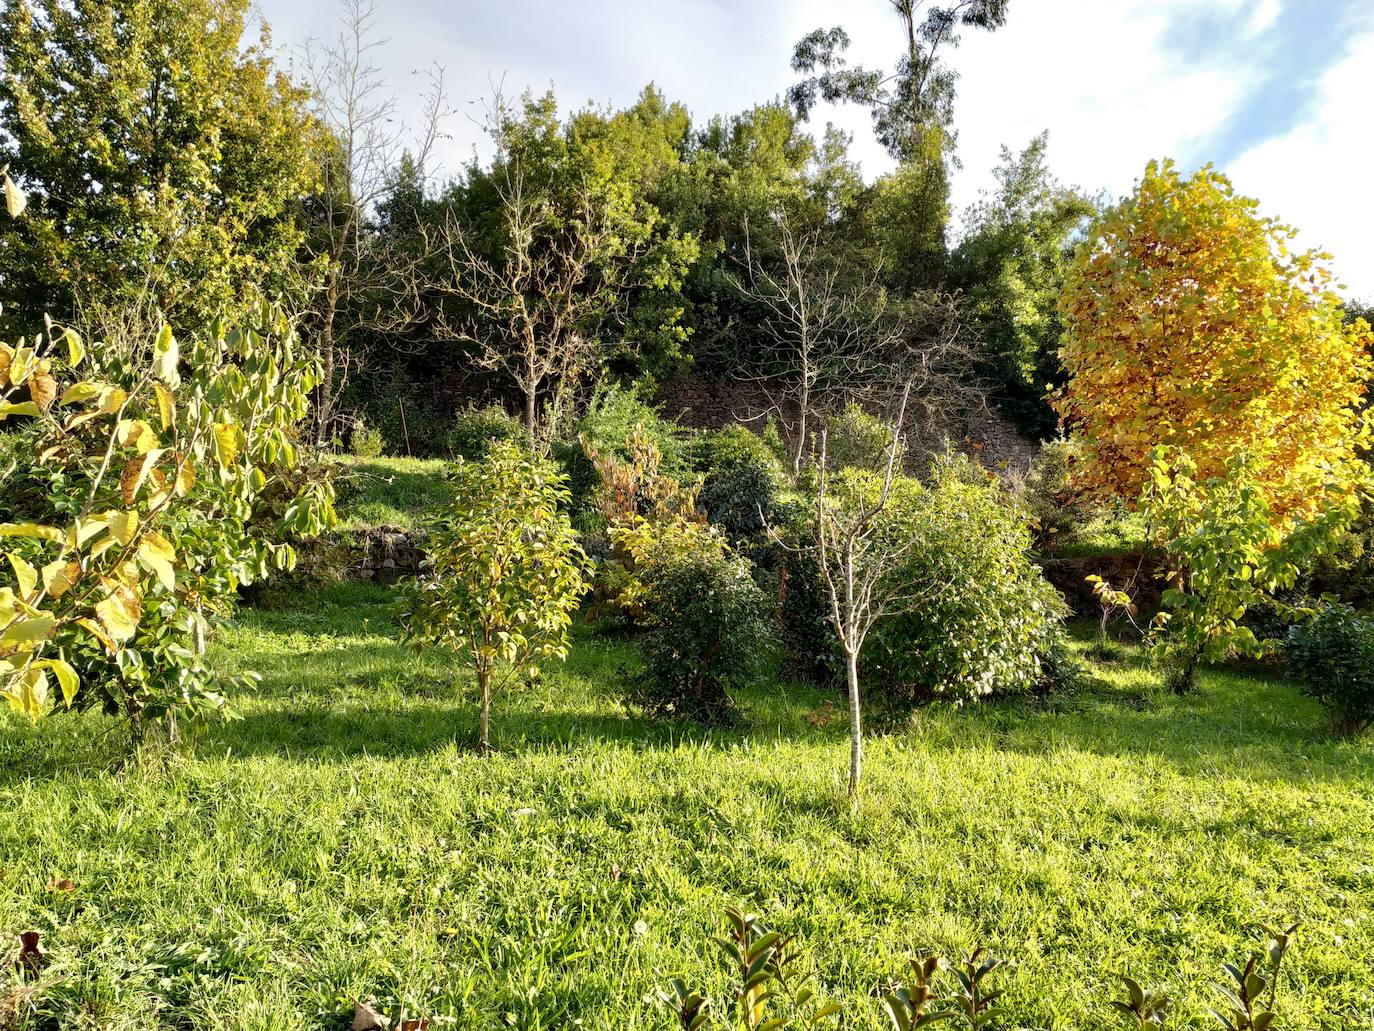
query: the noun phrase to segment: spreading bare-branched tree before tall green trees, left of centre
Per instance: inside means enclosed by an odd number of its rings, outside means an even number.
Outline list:
[[[497,96],[488,126],[499,147],[510,117]],[[502,147],[491,177],[500,242],[484,247],[452,213],[436,289],[469,312],[455,333],[478,345],[477,364],[508,378],[523,400],[532,447],[547,447],[572,390],[605,357],[602,329],[638,286],[646,243],[633,239],[589,184],[554,197],[548,172],[523,148]],[[493,253],[495,250],[495,253]],[[540,399],[547,408],[540,412]]]

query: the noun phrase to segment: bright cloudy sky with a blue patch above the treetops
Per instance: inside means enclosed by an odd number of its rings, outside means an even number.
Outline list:
[[[260,0],[284,58],[333,38],[337,0]],[[481,147],[481,104],[554,87],[565,110],[624,106],[653,81],[698,121],[782,96],[791,48],[842,25],[852,63],[890,69],[888,0],[383,0],[374,56],[419,111],[442,66],[453,115],[438,157],[456,173]],[[339,8],[341,14],[341,8]],[[1006,26],[966,30],[958,71],[956,212],[993,186],[1003,144],[1050,132],[1048,162],[1090,192],[1129,192],[1150,158],[1213,162],[1263,210],[1333,254],[1353,297],[1374,298],[1374,0],[1011,0]],[[822,107],[853,133],[872,177],[892,162],[868,113]],[[485,153],[480,150],[480,153]]]

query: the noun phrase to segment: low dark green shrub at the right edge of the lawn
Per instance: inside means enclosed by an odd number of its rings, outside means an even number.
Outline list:
[[[1303,690],[1326,705],[1338,733],[1374,724],[1374,619],[1330,603],[1289,630],[1285,657]]]

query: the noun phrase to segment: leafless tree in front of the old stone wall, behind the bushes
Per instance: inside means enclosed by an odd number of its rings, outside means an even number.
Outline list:
[[[872,377],[900,338],[901,324],[892,318],[879,268],[846,279],[829,256],[822,230],[796,227],[786,210],[774,223],[776,267],[754,253],[746,224],[745,276],[735,279],[735,289],[765,312],[768,346],[756,378],[779,419],[786,422],[787,410],[794,414],[791,467],[800,473],[812,417],[856,379]]]

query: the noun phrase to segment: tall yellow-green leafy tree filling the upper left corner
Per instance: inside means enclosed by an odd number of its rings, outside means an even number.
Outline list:
[[[0,238],[11,326],[103,322],[133,300],[199,326],[291,280],[317,126],[305,91],[273,67],[265,26],[245,40],[247,11],[4,5],[0,165],[30,198]]]

